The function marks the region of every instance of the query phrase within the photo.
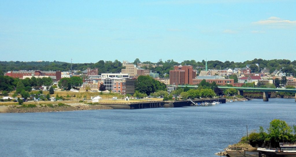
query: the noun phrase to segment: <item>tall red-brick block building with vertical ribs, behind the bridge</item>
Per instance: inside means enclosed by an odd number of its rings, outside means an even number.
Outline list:
[[[170,85],[193,85],[196,72],[191,65],[175,66],[170,70]]]

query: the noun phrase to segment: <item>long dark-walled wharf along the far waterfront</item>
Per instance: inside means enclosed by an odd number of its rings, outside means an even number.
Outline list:
[[[181,101],[141,101],[141,102],[102,102],[100,105],[109,106],[114,109],[141,109],[141,108],[178,108],[184,106],[194,106],[196,103],[226,103],[226,98],[207,98],[196,100],[181,100]],[[195,103],[195,104],[194,104]]]

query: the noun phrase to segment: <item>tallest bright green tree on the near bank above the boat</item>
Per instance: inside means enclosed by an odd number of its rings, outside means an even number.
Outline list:
[[[292,128],[285,121],[274,119],[269,124],[268,140],[274,148],[279,147],[280,142],[289,142]]]

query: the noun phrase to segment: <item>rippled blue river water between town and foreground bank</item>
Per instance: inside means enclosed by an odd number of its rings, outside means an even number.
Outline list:
[[[0,114],[0,156],[215,156],[275,118],[296,124],[294,99],[210,107]]]

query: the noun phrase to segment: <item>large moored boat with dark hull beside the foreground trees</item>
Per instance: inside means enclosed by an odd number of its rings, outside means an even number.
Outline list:
[[[279,143],[280,148],[257,148],[266,157],[295,157],[296,143]]]

